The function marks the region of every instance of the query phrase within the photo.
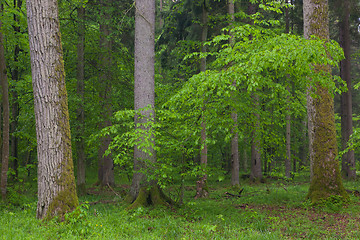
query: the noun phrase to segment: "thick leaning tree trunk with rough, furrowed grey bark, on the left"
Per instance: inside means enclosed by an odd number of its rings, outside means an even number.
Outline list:
[[[65,71],[56,0],[28,0],[30,57],[38,155],[37,217],[78,206]]]

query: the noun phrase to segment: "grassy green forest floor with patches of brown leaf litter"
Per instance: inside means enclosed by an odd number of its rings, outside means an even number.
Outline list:
[[[209,198],[198,200],[187,182],[182,206],[131,211],[122,202],[128,185],[91,186],[80,197],[80,215],[69,214],[64,222],[37,220],[35,191],[18,190],[17,202],[0,205],[0,239],[360,239],[360,197],[314,207],[304,179],[244,180],[240,188],[210,180]],[[359,186],[344,184],[349,190]],[[177,190],[165,192],[176,199]]]

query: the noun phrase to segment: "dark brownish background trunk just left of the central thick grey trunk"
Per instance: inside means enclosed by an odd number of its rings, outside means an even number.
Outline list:
[[[106,0],[102,1],[105,5]],[[110,1],[109,1],[110,2]],[[112,44],[109,39],[110,36],[110,15],[107,12],[103,13],[102,21],[100,23],[100,49],[102,49],[100,54],[100,101],[101,101],[101,115],[102,122],[100,123],[100,128],[111,126],[111,55],[112,55]],[[98,152],[98,181],[101,186],[114,185],[114,162],[111,154],[104,155],[105,151],[108,149],[111,143],[111,137],[109,135],[104,136],[101,140],[100,148]]]

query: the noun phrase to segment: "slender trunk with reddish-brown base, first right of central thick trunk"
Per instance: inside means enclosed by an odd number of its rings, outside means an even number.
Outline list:
[[[205,53],[207,51],[205,42],[207,40],[208,34],[208,9],[206,6],[206,1],[202,5],[202,15],[201,15],[201,52]],[[200,71],[206,71],[206,57],[200,59]],[[203,113],[205,112],[206,106],[203,107]],[[200,165],[203,168],[207,166],[207,144],[206,144],[206,120],[204,114],[201,117],[201,152],[200,152]],[[200,179],[196,182],[196,195],[195,198],[208,197],[209,191],[207,188],[207,175],[204,174],[200,176]]]

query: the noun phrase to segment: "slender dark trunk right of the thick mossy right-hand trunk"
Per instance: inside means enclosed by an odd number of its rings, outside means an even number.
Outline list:
[[[347,143],[353,133],[352,122],[352,96],[351,96],[351,53],[350,53],[350,2],[341,1],[343,9],[340,28],[340,45],[344,50],[345,59],[340,63],[340,75],[346,82],[347,92],[341,94],[341,142],[342,148],[346,149]],[[345,178],[356,178],[355,156],[351,150],[343,155],[342,173]]]

